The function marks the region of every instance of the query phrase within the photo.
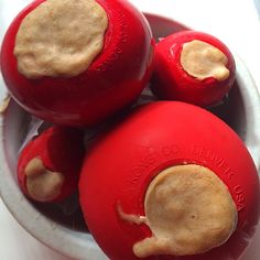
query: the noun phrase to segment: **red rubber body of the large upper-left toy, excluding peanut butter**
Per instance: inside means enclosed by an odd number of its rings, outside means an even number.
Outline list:
[[[154,41],[144,15],[128,1],[97,0],[108,15],[101,53],[73,78],[29,79],[13,55],[23,19],[44,0],[33,1],[12,22],[1,50],[1,69],[13,98],[30,113],[66,126],[99,122],[133,102],[147,85]]]

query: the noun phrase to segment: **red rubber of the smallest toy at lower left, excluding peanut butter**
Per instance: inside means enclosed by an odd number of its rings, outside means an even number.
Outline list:
[[[84,131],[66,127],[48,128],[31,140],[19,155],[17,173],[22,192],[37,202],[53,203],[65,199],[77,191],[84,154]],[[57,192],[58,195],[52,199],[41,201],[33,197],[28,189],[29,176],[25,169],[34,159],[41,160],[44,171],[51,171],[52,174],[61,173],[64,178],[61,191]],[[36,174],[41,177],[43,173],[40,171]],[[46,181],[46,178],[40,181]],[[45,186],[45,188],[48,187]]]

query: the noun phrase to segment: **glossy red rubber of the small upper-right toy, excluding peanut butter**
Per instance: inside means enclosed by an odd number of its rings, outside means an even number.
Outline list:
[[[183,45],[194,40],[210,44],[226,57],[229,76],[218,80],[213,76],[203,80],[189,75],[181,63]],[[215,36],[196,31],[171,34],[158,43],[152,89],[160,99],[177,100],[202,107],[214,106],[230,90],[236,74],[236,64],[228,47]]]

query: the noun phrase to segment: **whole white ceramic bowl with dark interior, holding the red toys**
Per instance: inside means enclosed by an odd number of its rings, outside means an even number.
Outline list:
[[[147,14],[156,39],[185,29],[172,20]],[[260,169],[260,98],[243,63],[236,57],[236,84],[228,99],[210,110],[225,120],[243,140],[254,163]],[[29,131],[31,117],[11,101],[0,119],[0,192],[13,217],[33,237],[74,259],[102,260],[106,256],[91,235],[82,226],[75,228],[74,216],[62,217],[59,209],[32,204],[21,193],[17,175],[17,158]],[[77,214],[76,219],[80,218]],[[63,218],[63,220],[62,220]],[[65,220],[64,220],[65,218]],[[79,219],[80,223],[80,219]]]

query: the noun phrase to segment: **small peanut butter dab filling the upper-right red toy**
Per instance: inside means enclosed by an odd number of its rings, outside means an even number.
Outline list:
[[[208,43],[194,40],[183,45],[181,65],[188,75],[199,80],[208,77],[218,82],[227,79],[230,74],[227,64],[227,56]]]

